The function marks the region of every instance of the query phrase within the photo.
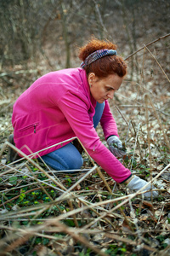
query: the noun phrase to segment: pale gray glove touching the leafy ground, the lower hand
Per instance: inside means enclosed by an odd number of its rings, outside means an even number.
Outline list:
[[[138,191],[139,189],[143,188],[145,184],[147,184],[147,182],[144,179],[134,175],[133,179],[127,184],[127,188]],[[151,186],[151,184],[149,184],[143,191],[150,190],[150,189],[156,189],[156,188],[153,185]],[[143,194],[144,198],[147,198],[149,200],[151,197],[151,193],[153,198],[159,195],[157,191],[150,191]]]

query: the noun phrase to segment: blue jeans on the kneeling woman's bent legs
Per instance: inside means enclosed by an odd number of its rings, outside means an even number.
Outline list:
[[[96,128],[99,124],[104,108],[105,102],[97,102],[93,119],[94,128]],[[51,153],[42,155],[42,160],[48,166],[51,166],[54,170],[58,171],[80,169],[83,164],[82,155],[72,143],[68,143],[62,148],[54,150]]]

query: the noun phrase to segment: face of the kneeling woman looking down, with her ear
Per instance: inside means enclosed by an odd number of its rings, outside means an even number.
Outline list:
[[[122,78],[117,74],[111,74],[104,79],[99,79],[94,73],[89,73],[88,84],[94,99],[103,103],[105,100],[113,98],[115,91],[119,90],[122,84]]]

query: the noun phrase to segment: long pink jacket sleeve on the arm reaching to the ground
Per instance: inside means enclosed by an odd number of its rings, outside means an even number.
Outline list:
[[[99,140],[88,104],[82,101],[80,96],[68,91],[64,97],[60,98],[59,108],[65,114],[71,129],[87,149],[88,154],[109,176],[117,183],[122,183],[131,176],[131,172],[122,166],[121,162]]]

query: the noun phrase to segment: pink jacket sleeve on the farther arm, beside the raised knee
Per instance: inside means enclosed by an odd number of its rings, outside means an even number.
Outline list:
[[[105,140],[111,135],[116,135],[117,137],[119,137],[117,132],[116,121],[113,118],[108,101],[105,101],[105,108],[102,118],[100,119],[100,125],[104,131]]]

